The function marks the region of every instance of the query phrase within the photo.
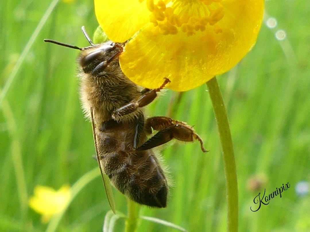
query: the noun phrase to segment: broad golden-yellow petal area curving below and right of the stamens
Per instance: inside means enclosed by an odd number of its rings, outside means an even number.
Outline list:
[[[263,1],[226,0],[224,16],[193,35],[163,35],[148,24],[120,56],[123,72],[138,85],[157,88],[167,77],[168,88],[193,89],[235,66],[254,45],[263,17]],[[223,18],[221,18],[223,16]]]

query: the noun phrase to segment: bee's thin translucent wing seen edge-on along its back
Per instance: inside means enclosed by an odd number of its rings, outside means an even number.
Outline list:
[[[111,187],[111,184],[110,184],[110,179],[104,173],[104,171],[102,170],[101,165],[100,165],[100,157],[99,157],[99,154],[98,154],[97,139],[96,139],[96,133],[95,133],[95,122],[94,122],[94,116],[93,116],[93,109],[92,108],[91,108],[91,124],[92,124],[92,127],[93,127],[93,136],[94,136],[94,142],[95,142],[95,150],[96,150],[97,161],[98,161],[100,172],[101,172],[101,176],[102,176],[102,179],[103,179],[105,193],[107,194],[108,202],[110,204],[110,207],[111,207],[113,213],[116,214],[115,202],[114,202],[112,187]]]

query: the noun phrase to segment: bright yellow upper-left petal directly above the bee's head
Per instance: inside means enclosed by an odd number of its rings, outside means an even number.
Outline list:
[[[113,42],[125,42],[149,21],[145,2],[95,0],[97,20]]]

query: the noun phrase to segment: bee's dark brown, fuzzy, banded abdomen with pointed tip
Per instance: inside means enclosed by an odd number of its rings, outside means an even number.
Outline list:
[[[136,151],[118,136],[102,132],[97,136],[101,168],[130,199],[151,207],[166,207],[168,185],[153,151]]]

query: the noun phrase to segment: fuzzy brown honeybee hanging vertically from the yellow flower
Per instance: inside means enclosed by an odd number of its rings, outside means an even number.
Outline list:
[[[168,85],[168,78],[156,89],[136,85],[125,76],[118,61],[126,42],[94,44],[84,27],[82,32],[90,46],[44,41],[81,51],[77,59],[80,98],[86,117],[92,121],[102,176],[106,174],[120,192],[139,204],[166,207],[168,183],[153,148],[171,139],[198,140],[206,152],[202,139],[184,122],[164,116],[145,117],[144,107]]]

